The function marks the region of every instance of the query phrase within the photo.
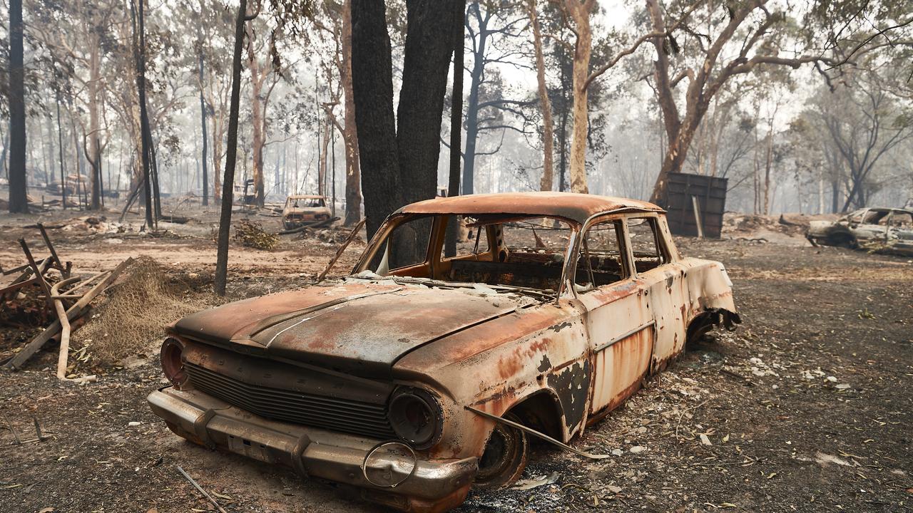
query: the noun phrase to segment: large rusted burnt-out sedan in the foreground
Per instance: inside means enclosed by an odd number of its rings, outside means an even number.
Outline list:
[[[472,236],[447,251],[454,215]],[[683,257],[655,204],[436,198],[390,215],[348,277],[174,323],[173,385],[148,401],[197,444],[443,511],[739,321],[722,264]]]

